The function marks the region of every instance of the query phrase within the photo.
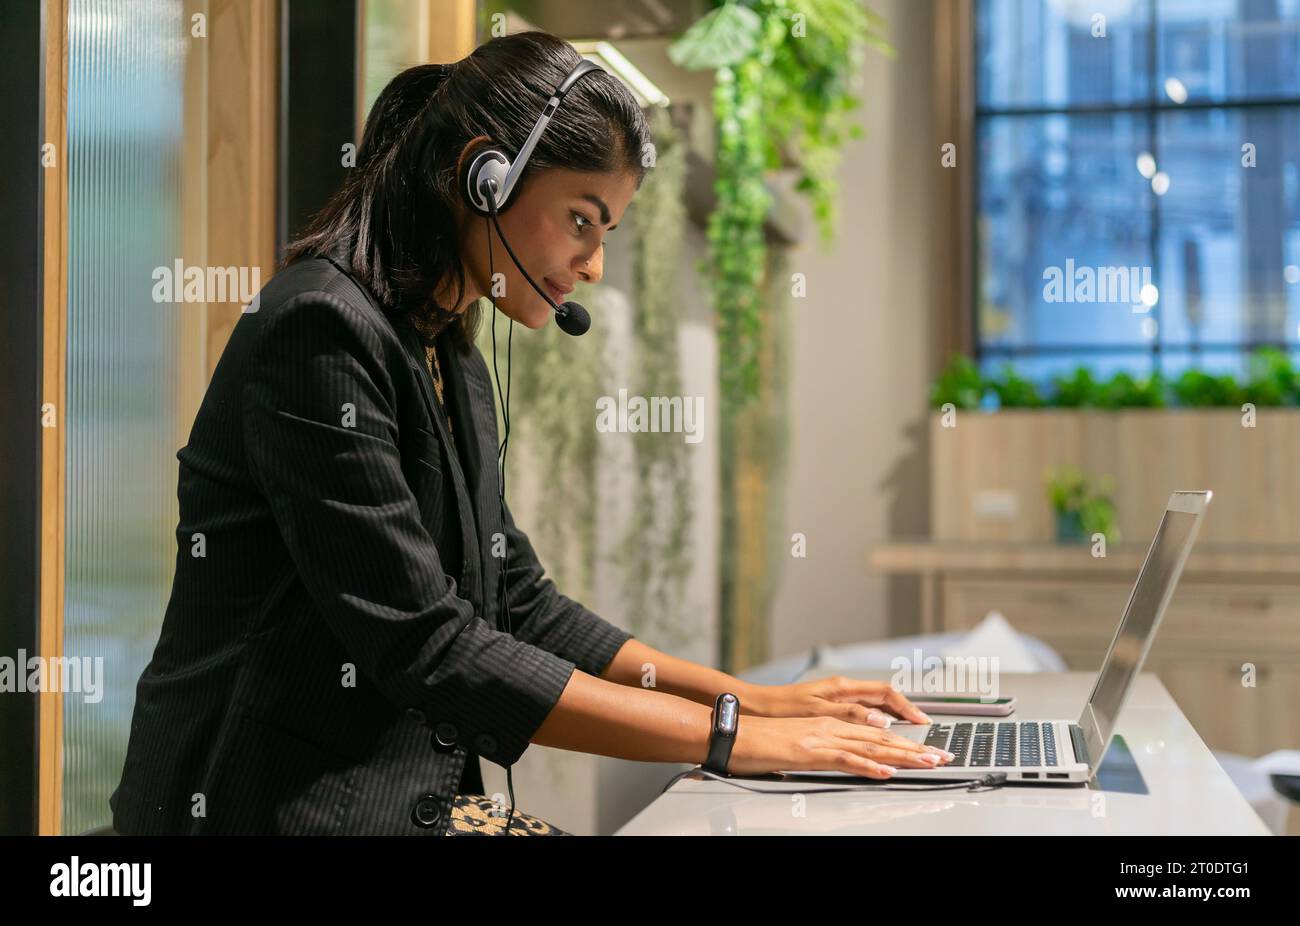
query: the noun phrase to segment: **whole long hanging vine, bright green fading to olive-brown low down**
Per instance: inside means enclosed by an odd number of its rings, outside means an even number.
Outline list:
[[[768,254],[764,178],[790,165],[823,247],[833,241],[840,147],[864,47],[892,56],[884,22],[858,0],[722,0],[668,49],[712,69],[716,152],[708,280],[718,326],[722,408],[720,623],[724,671],[760,661],[784,562],[784,326],[788,284]],[[780,255],[784,256],[784,255]],[[775,276],[781,274],[781,276]]]

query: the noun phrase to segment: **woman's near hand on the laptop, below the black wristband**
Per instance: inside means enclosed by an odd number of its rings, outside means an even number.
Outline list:
[[[755,717],[736,728],[727,771],[845,771],[863,778],[892,778],[897,769],[935,769],[952,753],[915,743],[880,727],[835,717]]]

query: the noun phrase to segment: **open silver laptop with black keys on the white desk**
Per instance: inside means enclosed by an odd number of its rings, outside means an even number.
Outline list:
[[[900,736],[946,749],[956,753],[957,758],[937,769],[900,767],[889,780],[979,778],[988,773],[1006,773],[1009,782],[1067,783],[1092,779],[1110,747],[1115,721],[1123,710],[1134,679],[1141,671],[1156,640],[1156,631],[1174,596],[1174,587],[1178,585],[1187,554],[1196,540],[1210,494],[1175,492],[1169,497],[1169,509],[1156,528],[1156,537],[1147,550],[1138,581],[1128,596],[1128,605],[1078,723],[982,717],[971,717],[968,722],[896,723],[890,730]]]

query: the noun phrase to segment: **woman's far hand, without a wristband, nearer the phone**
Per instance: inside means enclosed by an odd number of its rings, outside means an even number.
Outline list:
[[[888,681],[866,681],[835,675],[789,685],[754,685],[741,694],[742,714],[762,717],[836,717],[850,723],[888,727],[893,718],[932,723]]]

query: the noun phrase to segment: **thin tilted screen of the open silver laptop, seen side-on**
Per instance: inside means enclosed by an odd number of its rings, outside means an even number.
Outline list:
[[[1183,571],[1197,519],[1196,514],[1170,507],[1156,529],[1156,538],[1147,551],[1147,561],[1138,575],[1119,631],[1110,642],[1110,652],[1101,665],[1092,696],[1079,718],[1088,743],[1088,760],[1093,766],[1100,763],[1110,744],[1128,688],[1147,658],[1147,650],[1156,636],[1156,624]]]

